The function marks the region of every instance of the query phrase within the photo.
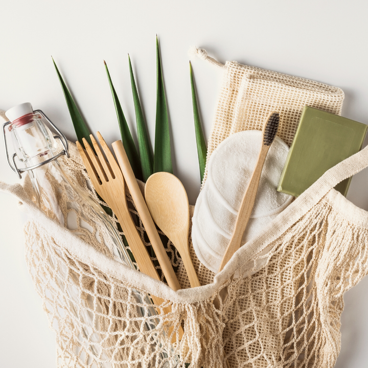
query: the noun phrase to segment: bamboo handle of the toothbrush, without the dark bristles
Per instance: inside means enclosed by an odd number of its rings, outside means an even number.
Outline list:
[[[243,199],[240,204],[238,216],[237,216],[235,226],[234,226],[233,235],[230,239],[229,244],[227,245],[225,254],[222,257],[219,272],[222,271],[226,263],[233,257],[233,254],[241,246],[241,240],[242,240],[245,228],[248,224],[250,214],[252,212],[252,209],[253,209],[253,206],[256,200],[256,195],[257,195],[259,181],[261,178],[262,168],[263,168],[263,164],[265,162],[269,148],[270,146],[262,145],[261,151],[257,159],[256,167],[252,173],[252,176],[250,177],[248,186],[245,190]]]

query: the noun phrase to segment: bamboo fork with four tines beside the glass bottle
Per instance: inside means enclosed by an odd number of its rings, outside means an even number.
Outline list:
[[[129,213],[125,196],[125,181],[120,167],[103,140],[101,134],[99,134],[99,141],[108,160],[105,159],[94,136],[90,134],[90,137],[97,156],[84,138],[83,143],[86,151],[82,148],[79,142],[76,142],[76,144],[91,182],[96,189],[96,192],[117,215],[124,235],[127,238],[129,247],[140,270],[153,279],[160,281],[159,275],[151,261],[147,248],[143,244],[141,236],[138,234],[133,219]],[[151,295],[151,297],[153,303],[157,306],[164,303],[164,300],[158,296]],[[165,307],[163,308],[163,311],[165,314],[170,313],[171,307]],[[157,312],[159,313],[159,311]],[[183,330],[180,327],[179,338],[181,338],[182,334]]]

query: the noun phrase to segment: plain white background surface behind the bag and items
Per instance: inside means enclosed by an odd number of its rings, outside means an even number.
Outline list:
[[[189,80],[191,58],[206,139],[222,72],[190,57],[192,45],[221,62],[264,67],[341,87],[342,115],[368,123],[365,1],[217,0],[2,1],[0,108],[31,102],[75,141],[51,55],[70,87],[90,131],[108,143],[119,129],[104,71],[106,60],[131,130],[135,132],[127,54],[132,59],[153,143],[158,34],[172,133],[174,173],[191,204],[199,193]],[[133,133],[135,136],[135,133]],[[352,180],[348,198],[368,210],[368,172]],[[0,148],[0,180],[16,182]],[[56,366],[54,333],[48,328],[24,259],[21,214],[0,194],[0,367]],[[342,349],[336,367],[366,367],[368,279],[345,297]]]

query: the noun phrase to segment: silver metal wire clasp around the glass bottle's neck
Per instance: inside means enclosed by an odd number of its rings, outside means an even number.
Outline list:
[[[69,145],[68,145],[68,142],[67,142],[67,139],[65,137],[65,135],[53,124],[53,122],[43,113],[42,110],[34,110],[33,113],[40,113],[43,118],[45,118],[45,120],[47,120],[47,122],[55,129],[55,131],[58,133],[56,135],[54,135],[54,139],[58,139],[60,140],[61,144],[63,145],[64,149],[59,152],[57,155],[37,164],[37,165],[34,165],[34,166],[31,166],[31,167],[25,167],[25,168],[21,168],[19,169],[15,163],[15,157],[16,157],[16,153],[14,153],[11,158],[9,157],[9,151],[8,151],[8,145],[7,145],[7,139],[6,139],[6,130],[5,128],[11,124],[10,121],[6,122],[3,124],[3,135],[4,135],[4,146],[5,146],[5,154],[6,154],[6,157],[7,157],[7,161],[8,161],[8,165],[10,166],[10,168],[18,174],[19,176],[19,179],[21,178],[21,174],[24,173],[25,171],[29,171],[29,170],[33,170],[33,169],[36,169],[42,165],[45,165],[45,164],[48,164],[49,162],[53,161],[54,159],[62,156],[62,155],[66,155],[66,157],[69,158]],[[13,163],[13,165],[12,165]]]

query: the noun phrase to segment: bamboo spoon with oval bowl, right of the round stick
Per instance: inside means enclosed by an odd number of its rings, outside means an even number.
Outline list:
[[[189,202],[182,183],[173,174],[155,173],[146,182],[145,197],[154,222],[179,251],[191,287],[201,286],[189,253]]]

